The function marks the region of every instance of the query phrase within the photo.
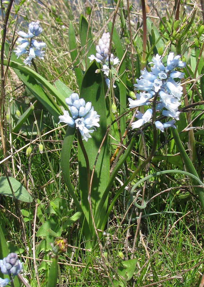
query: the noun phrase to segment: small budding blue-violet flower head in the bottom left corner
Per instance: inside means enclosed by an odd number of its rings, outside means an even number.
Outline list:
[[[12,252],[3,260],[0,260],[0,268],[3,274],[9,274],[14,277],[22,270],[22,263],[18,260],[18,255]]]

